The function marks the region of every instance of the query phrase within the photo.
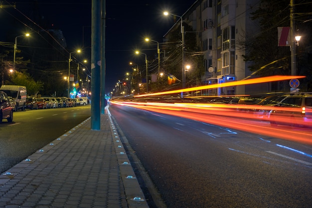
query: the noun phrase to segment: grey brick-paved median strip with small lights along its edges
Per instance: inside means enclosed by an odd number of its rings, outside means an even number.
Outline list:
[[[0,175],[0,208],[148,208],[109,115],[91,118]]]

